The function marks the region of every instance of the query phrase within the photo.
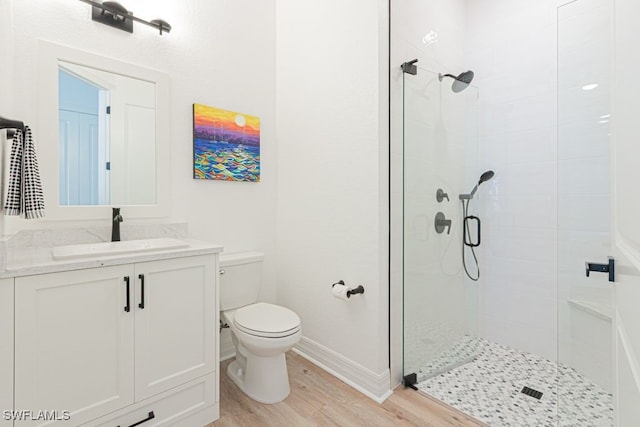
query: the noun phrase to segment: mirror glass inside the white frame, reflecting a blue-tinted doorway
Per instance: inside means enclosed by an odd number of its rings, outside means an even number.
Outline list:
[[[155,84],[58,61],[60,206],[156,203]]]

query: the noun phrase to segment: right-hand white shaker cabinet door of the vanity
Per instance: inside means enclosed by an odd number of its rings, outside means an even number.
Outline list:
[[[204,255],[135,265],[136,401],[215,370],[214,262]]]

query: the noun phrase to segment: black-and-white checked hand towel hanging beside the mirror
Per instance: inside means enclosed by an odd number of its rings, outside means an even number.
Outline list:
[[[38,159],[28,126],[17,130],[11,146],[9,187],[4,205],[5,215],[20,215],[26,219],[44,216],[44,196],[38,172]]]

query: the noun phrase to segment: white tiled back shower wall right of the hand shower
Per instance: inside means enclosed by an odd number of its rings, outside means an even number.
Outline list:
[[[610,0],[467,1],[465,42],[480,166],[496,172],[479,203],[481,334],[550,360],[560,338],[562,361],[604,372],[605,387],[609,340],[584,342],[568,300],[610,297],[582,271],[609,248],[610,11]]]

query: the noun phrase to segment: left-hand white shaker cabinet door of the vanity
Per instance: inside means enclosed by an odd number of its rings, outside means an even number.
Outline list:
[[[16,410],[76,426],[133,402],[133,286],[131,265],[15,279]]]

